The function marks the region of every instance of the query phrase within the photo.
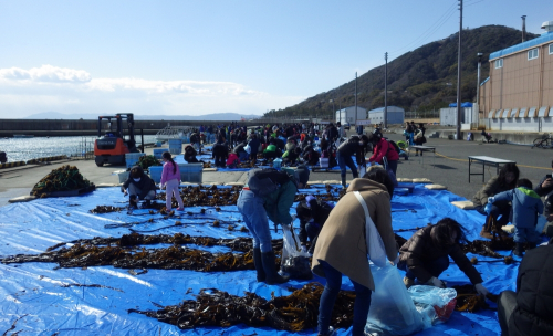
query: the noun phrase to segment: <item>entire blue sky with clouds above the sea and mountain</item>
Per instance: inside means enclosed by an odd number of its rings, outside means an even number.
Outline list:
[[[463,27],[542,33],[553,1],[466,0]],[[261,115],[459,29],[456,0],[0,0],[0,118]],[[549,15],[549,17],[547,17]]]

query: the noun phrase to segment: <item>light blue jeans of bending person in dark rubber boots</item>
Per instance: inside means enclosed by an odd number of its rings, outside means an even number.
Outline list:
[[[246,227],[253,235],[253,248],[261,249],[262,253],[271,252],[271,232],[269,230],[267,211],[263,208],[263,199],[257,197],[250,190],[242,190],[237,206],[238,211],[242,214]]]

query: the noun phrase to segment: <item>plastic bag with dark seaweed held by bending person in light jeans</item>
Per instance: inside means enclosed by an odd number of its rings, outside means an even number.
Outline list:
[[[294,229],[282,230],[282,259],[280,269],[282,273],[290,275],[291,279],[311,280],[310,254],[307,251],[302,250],[300,239],[294,233]]]

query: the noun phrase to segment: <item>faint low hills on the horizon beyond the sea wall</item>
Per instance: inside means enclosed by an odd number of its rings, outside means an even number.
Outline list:
[[[59,112],[43,112],[28,116],[25,119],[97,119],[100,114],[63,114]],[[109,114],[104,114],[109,115]],[[115,115],[115,113],[113,113]],[[221,120],[221,122],[239,122],[244,119],[257,119],[260,115],[241,115],[238,113],[212,113],[201,116],[189,115],[137,115],[136,120]]]

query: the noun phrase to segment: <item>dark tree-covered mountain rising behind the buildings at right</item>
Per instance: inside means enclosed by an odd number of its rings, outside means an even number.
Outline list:
[[[388,106],[405,111],[432,111],[457,102],[457,50],[459,33],[422,45],[388,62]],[[526,33],[528,39],[539,35]],[[461,101],[474,102],[478,56],[482,53],[480,80],[488,77],[492,52],[521,43],[522,32],[503,25],[484,25],[462,31]],[[330,116],[338,106],[355,105],[355,80],[265,116]],[[384,64],[357,78],[357,106],[384,106]]]

